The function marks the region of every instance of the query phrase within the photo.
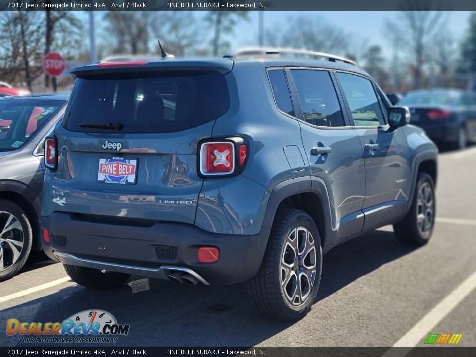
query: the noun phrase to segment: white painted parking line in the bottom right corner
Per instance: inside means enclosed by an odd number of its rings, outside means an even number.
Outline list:
[[[426,338],[446,315],[448,315],[465,297],[476,288],[476,271],[473,272],[463,283],[440,301],[420,321],[416,323],[393,347],[413,347]]]

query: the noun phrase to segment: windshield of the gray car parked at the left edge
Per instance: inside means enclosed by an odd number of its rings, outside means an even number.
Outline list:
[[[38,99],[0,101],[0,151],[23,146],[63,103]]]

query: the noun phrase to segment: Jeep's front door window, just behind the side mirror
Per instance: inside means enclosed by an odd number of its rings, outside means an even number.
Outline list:
[[[385,125],[382,109],[370,80],[348,73],[336,73],[351,109],[355,126]]]

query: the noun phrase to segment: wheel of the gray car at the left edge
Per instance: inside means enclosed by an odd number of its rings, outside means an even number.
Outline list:
[[[25,265],[33,243],[33,232],[25,211],[17,204],[1,199],[0,212],[0,281],[4,281],[14,277]],[[13,219],[8,227],[11,228],[12,224],[18,222],[21,229],[14,228],[2,233],[6,228],[4,226],[8,223],[9,215],[12,215]],[[3,238],[8,241],[2,240]],[[14,243],[15,241],[18,243]],[[13,249],[16,249],[15,253],[13,253]],[[18,252],[19,255],[16,255]]]

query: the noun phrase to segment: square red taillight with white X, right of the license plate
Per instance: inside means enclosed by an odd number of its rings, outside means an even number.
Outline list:
[[[202,175],[227,175],[235,170],[234,146],[231,142],[209,142],[200,148]]]

